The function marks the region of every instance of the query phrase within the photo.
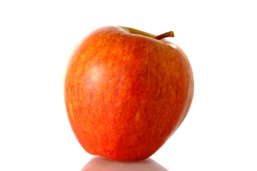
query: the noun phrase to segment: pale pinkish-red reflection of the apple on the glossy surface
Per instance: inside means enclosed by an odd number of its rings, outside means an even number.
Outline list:
[[[135,162],[118,162],[94,156],[81,171],[168,171],[151,158]]]

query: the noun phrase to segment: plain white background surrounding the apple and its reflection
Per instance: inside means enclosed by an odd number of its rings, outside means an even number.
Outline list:
[[[191,62],[186,120],[151,158],[170,171],[257,170],[255,0],[1,0],[0,171],[80,171],[66,115],[73,47],[104,25],[173,30]]]

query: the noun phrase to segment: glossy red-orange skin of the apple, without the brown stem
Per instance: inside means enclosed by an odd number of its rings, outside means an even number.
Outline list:
[[[104,26],[88,34],[64,77],[78,142],[93,155],[119,161],[145,159],[161,148],[185,119],[194,91],[180,47],[125,30]]]

